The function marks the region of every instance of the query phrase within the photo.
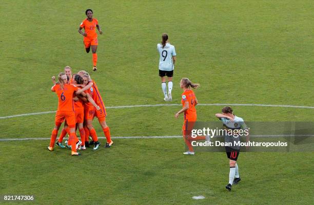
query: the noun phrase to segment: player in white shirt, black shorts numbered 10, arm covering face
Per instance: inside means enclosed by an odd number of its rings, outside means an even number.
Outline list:
[[[227,130],[246,130],[247,126],[241,117],[235,116],[233,114],[232,108],[224,107],[222,113],[215,114],[224,125]],[[247,130],[248,131],[248,130]],[[228,133],[228,132],[227,132]],[[227,157],[229,158],[230,172],[229,172],[229,183],[226,186],[228,191],[231,191],[231,186],[233,183],[238,183],[241,178],[239,175],[239,168],[237,159],[240,154],[240,146],[234,145],[234,142],[240,141],[240,136],[225,135],[225,142],[231,142],[230,147],[225,147]]]

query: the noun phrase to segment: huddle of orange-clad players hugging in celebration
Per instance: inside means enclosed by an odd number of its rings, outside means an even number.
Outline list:
[[[54,86],[51,91],[58,97],[58,108],[55,114],[55,126],[53,128],[49,151],[53,151],[54,145],[61,148],[70,148],[71,155],[81,155],[77,150],[85,150],[86,147],[94,145],[93,150],[100,147],[95,129],[92,126],[94,117],[98,121],[106,136],[106,148],[110,148],[113,141],[110,137],[110,129],[106,124],[106,108],[102,96],[94,80],[88,72],[82,70],[72,75],[71,68],[65,67],[65,72],[58,74],[58,81],[52,77]],[[58,130],[65,121],[61,135],[55,142]],[[80,132],[81,140],[76,136],[76,130]],[[66,145],[62,144],[63,138],[69,135]],[[92,138],[89,141],[89,136]]]

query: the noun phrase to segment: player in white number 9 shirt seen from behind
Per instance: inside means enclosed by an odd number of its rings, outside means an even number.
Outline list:
[[[162,80],[162,89],[164,93],[164,100],[171,101],[172,100],[172,77],[173,77],[173,69],[176,60],[176,53],[174,46],[168,43],[168,35],[163,33],[162,35],[162,43],[157,44],[157,49],[160,54],[159,58],[159,76]],[[167,94],[167,85],[166,85],[166,77],[168,77],[168,94]]]

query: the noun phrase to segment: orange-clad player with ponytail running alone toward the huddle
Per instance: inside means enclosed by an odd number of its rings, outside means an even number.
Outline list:
[[[195,109],[195,106],[198,105],[198,99],[190,88],[196,89],[198,87],[200,87],[199,84],[193,84],[188,78],[182,78],[180,81],[180,88],[182,88],[184,91],[182,93],[181,100],[183,108],[174,116],[178,118],[181,113],[184,113],[182,132],[185,144],[187,145],[189,150],[187,152],[184,152],[183,154],[194,155],[192,141],[206,139],[205,136],[191,137],[191,130],[195,121],[197,120],[197,111]]]

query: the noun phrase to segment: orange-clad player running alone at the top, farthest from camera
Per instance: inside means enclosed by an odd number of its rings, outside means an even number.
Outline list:
[[[103,34],[103,31],[101,30],[98,20],[96,18],[93,18],[93,11],[91,9],[87,9],[85,11],[85,14],[87,18],[83,20],[80,27],[78,28],[78,33],[84,36],[84,45],[85,50],[87,53],[90,51],[90,47],[92,49],[93,53],[93,71],[97,70],[97,45],[98,45],[98,39],[97,39],[97,33],[95,28],[97,28],[99,34]],[[84,33],[81,31],[84,28]]]

